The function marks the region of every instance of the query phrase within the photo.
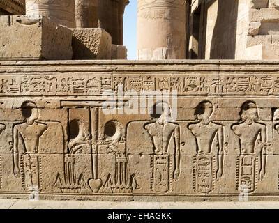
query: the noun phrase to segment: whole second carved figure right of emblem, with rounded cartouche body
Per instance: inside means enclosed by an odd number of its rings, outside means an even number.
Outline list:
[[[201,193],[211,192],[215,179],[223,175],[223,125],[210,121],[213,109],[210,101],[200,102],[195,109],[198,122],[188,125],[197,142],[197,155],[194,157],[193,165],[193,187],[195,191]],[[218,141],[217,159],[212,149],[215,138]]]

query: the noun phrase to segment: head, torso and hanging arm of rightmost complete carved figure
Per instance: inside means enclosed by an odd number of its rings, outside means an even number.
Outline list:
[[[266,125],[259,123],[259,114],[255,102],[248,101],[241,106],[241,122],[232,125],[232,130],[241,146],[241,155],[259,154],[259,180],[266,174]],[[259,141],[257,141],[259,139]],[[256,151],[259,148],[259,151]]]

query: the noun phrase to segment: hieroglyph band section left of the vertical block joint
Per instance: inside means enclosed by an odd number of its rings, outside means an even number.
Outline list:
[[[0,95],[82,95],[112,89],[110,77],[25,76],[2,77]]]

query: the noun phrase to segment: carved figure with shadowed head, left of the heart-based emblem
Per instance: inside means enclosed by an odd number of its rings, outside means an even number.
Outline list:
[[[22,137],[24,142],[22,171],[25,189],[29,190],[29,187],[39,186],[37,153],[39,139],[47,130],[47,125],[38,122],[38,109],[34,102],[24,102],[21,109],[25,121],[13,127],[14,174],[20,176],[19,139]]]

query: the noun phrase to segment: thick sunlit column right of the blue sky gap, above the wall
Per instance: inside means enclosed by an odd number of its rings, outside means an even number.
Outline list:
[[[185,0],[137,0],[139,59],[186,59]]]

